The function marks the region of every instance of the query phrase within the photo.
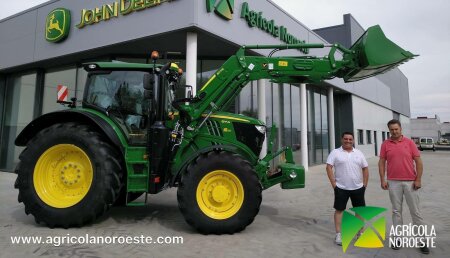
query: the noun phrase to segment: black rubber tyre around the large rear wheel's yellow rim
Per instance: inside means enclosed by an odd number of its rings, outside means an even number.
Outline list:
[[[42,160],[41,157],[45,159],[43,154],[48,153],[47,150],[51,151],[50,148],[61,145],[75,146],[81,149],[87,156],[84,160],[89,160],[92,167],[90,169],[92,173],[89,172],[89,174],[92,174],[92,180],[87,192],[81,194],[81,199],[77,203],[63,208],[55,207],[49,204],[50,202],[41,199],[35,187],[36,185],[38,185],[38,188],[40,187],[39,181],[36,183],[33,178],[34,173],[40,175],[39,173],[45,172],[39,171],[48,171],[48,169],[39,170],[39,167],[36,166],[37,162]],[[71,156],[68,156],[67,153],[66,157],[68,158],[66,160],[68,162],[76,160],[76,158],[70,160]],[[31,213],[37,223],[44,222],[50,228],[79,227],[93,222],[116,201],[121,188],[120,178],[123,175],[120,154],[99,133],[87,125],[64,123],[48,127],[40,131],[27,144],[19,159],[20,162],[16,168],[18,177],[15,184],[15,187],[19,189],[19,202],[24,203],[26,214]],[[51,162],[60,162],[56,159],[50,158],[50,160]],[[56,170],[54,169],[54,171]],[[56,171],[56,173],[59,172]],[[54,181],[59,180],[59,177],[54,178],[56,178]],[[78,178],[80,177],[78,176]],[[63,184],[63,182],[58,183]],[[64,184],[67,185],[67,181]],[[72,183],[70,184],[72,185]],[[64,194],[60,196],[66,197]]]

